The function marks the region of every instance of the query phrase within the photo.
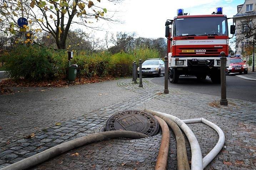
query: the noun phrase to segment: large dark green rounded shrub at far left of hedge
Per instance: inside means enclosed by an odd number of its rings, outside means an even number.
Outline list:
[[[17,46],[6,55],[5,69],[13,79],[53,79],[59,74],[60,58],[54,59],[53,52],[45,47]]]

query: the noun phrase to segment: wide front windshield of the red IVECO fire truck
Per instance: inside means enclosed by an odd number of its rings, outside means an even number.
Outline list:
[[[226,17],[177,18],[174,21],[174,37],[177,36],[228,35]]]

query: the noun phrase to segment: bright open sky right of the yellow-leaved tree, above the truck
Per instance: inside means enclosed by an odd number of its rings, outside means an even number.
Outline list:
[[[177,16],[177,9],[184,9],[184,13],[190,15],[206,15],[216,11],[216,7],[223,7],[223,14],[232,17],[237,13],[236,6],[243,3],[243,0],[124,0],[114,5],[101,0],[100,5],[107,10],[120,11],[115,17],[123,23],[99,21],[99,24],[103,24],[104,31],[96,31],[95,34],[101,37],[106,31],[122,31],[136,32],[137,37],[164,37],[165,21]],[[229,20],[229,25],[231,23],[232,20]]]

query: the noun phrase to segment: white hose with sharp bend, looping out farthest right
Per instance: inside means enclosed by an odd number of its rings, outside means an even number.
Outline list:
[[[219,126],[216,124],[204,119],[204,118],[196,118],[196,119],[185,119],[182,120],[184,123],[204,123],[211,128],[213,128],[219,134],[219,140],[215,147],[203,158],[203,166],[204,168],[219,154],[224,143],[225,143],[225,135]]]

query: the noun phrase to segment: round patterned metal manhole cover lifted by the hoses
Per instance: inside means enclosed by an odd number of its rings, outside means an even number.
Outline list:
[[[159,123],[154,116],[137,110],[118,112],[106,122],[106,131],[125,130],[154,136],[159,132]]]

